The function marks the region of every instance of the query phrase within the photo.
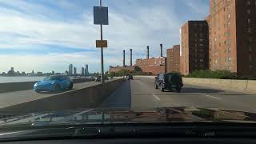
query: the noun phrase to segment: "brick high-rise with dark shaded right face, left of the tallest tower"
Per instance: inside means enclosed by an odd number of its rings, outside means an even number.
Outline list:
[[[209,35],[206,21],[188,21],[181,28],[182,74],[209,69]]]

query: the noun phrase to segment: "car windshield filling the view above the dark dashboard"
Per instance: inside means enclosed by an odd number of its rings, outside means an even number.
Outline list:
[[[0,141],[13,125],[256,123],[255,86],[256,0],[0,0]]]

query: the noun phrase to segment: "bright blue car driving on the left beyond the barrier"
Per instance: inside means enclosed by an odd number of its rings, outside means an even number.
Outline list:
[[[66,75],[54,75],[44,78],[40,82],[34,84],[33,90],[41,91],[60,91],[71,90],[73,88],[73,80]]]

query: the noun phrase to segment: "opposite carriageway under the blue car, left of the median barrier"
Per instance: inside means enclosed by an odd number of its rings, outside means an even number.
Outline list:
[[[115,79],[115,78],[114,78]],[[110,79],[110,81],[114,80]],[[98,85],[100,82],[82,82],[75,83],[73,90],[82,89],[88,86]],[[66,92],[66,91],[62,91]],[[62,93],[60,92],[60,93]],[[0,93],[0,109],[7,106],[14,106],[24,102],[34,101],[40,98],[51,97],[56,93],[36,93],[34,90],[22,90],[8,93]]]

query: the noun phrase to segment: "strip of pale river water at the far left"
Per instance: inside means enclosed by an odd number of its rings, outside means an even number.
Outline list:
[[[34,82],[41,81],[46,77],[0,77],[0,83],[6,82]]]

